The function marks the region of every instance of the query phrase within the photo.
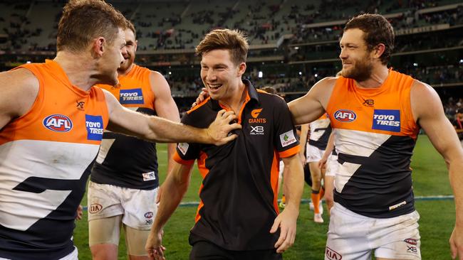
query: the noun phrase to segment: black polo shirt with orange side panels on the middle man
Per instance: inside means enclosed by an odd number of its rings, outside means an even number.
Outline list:
[[[183,164],[197,160],[203,178],[192,237],[228,250],[273,249],[279,234],[269,230],[279,213],[279,158],[298,153],[299,141],[286,102],[244,83],[247,95],[238,115],[243,126],[236,131],[238,138],[223,146],[179,143],[174,159]],[[182,123],[206,128],[221,109],[208,98]]]

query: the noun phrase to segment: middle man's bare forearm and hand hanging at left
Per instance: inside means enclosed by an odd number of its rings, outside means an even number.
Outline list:
[[[157,207],[155,222],[152,224],[150,236],[145,245],[149,256],[163,256],[162,228],[187,192],[192,166],[184,166],[174,162],[172,172],[167,175],[162,184],[162,189],[165,191],[161,194],[161,202]]]

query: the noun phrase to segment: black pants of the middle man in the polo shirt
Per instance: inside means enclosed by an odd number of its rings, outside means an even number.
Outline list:
[[[189,260],[281,260],[281,254],[276,249],[255,251],[230,251],[217,245],[199,241],[193,244]]]

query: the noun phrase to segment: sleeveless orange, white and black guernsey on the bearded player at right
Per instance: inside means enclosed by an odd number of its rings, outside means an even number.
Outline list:
[[[410,158],[419,131],[410,107],[413,78],[394,70],[379,88],[338,77],[327,112],[340,163],[335,202],[367,217],[415,210]]]

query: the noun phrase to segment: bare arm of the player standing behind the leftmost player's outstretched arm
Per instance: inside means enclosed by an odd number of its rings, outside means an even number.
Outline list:
[[[158,116],[169,119],[170,121],[180,122],[180,114],[177,105],[170,94],[170,87],[167,81],[159,72],[151,72],[150,83],[152,92],[155,93],[155,109]],[[171,160],[175,152],[175,143],[169,143],[167,148],[167,172],[173,167]]]

